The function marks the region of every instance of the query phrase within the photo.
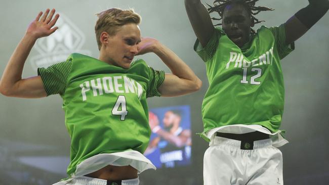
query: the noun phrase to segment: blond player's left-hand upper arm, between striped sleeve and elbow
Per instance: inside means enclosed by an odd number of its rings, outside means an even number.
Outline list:
[[[40,76],[21,79],[12,88],[2,89],[2,93],[5,96],[17,98],[43,98],[47,96]]]

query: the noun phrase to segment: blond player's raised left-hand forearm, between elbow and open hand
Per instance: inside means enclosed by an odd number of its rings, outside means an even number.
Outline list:
[[[12,54],[0,80],[0,90],[11,91],[22,79],[25,61],[36,41],[35,37],[25,34]],[[6,94],[6,92],[5,92]]]

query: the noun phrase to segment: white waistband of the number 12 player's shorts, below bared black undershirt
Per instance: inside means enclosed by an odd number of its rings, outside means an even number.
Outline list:
[[[254,141],[254,150],[255,149],[260,149],[260,148],[265,148],[268,146],[272,146],[272,140],[271,138],[265,139],[265,140],[258,140]],[[225,137],[219,137],[219,136],[214,136],[212,140],[209,143],[209,146],[215,146],[215,145],[226,145],[229,147],[234,147],[234,148],[241,148],[241,141],[238,140],[232,140],[229,138]]]

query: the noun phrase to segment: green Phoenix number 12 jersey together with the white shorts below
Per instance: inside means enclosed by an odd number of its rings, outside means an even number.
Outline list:
[[[282,153],[287,141],[279,130],[284,104],[280,59],[294,44],[285,44],[284,25],[262,26],[240,49],[216,28],[205,48],[195,51],[207,66],[209,88],[202,103],[203,138],[210,147],[203,157],[204,185],[283,183]],[[216,132],[272,135],[245,145]]]

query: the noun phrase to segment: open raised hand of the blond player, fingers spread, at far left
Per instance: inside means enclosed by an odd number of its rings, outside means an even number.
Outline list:
[[[50,14],[49,14],[50,12]],[[48,15],[49,14],[49,15]],[[55,14],[55,9],[50,11],[49,9],[46,10],[45,14],[40,12],[35,20],[30,23],[26,30],[26,34],[34,37],[34,38],[41,38],[45,36],[49,36],[54,33],[58,27],[53,27],[56,24],[56,21],[59,18],[59,14]],[[41,17],[42,16],[42,17]]]

